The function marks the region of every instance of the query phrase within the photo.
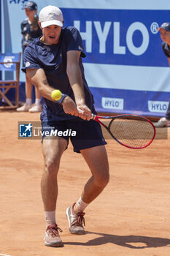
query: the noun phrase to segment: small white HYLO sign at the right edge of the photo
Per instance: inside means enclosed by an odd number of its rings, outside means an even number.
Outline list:
[[[150,112],[166,113],[169,102],[148,100],[148,110]]]

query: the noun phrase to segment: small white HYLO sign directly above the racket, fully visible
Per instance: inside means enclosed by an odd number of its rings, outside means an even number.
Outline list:
[[[103,108],[123,110],[124,99],[102,97],[101,105]]]

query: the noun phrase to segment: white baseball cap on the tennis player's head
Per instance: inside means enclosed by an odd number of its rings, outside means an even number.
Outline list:
[[[39,12],[42,29],[50,25],[63,26],[63,13],[58,7],[48,5]]]

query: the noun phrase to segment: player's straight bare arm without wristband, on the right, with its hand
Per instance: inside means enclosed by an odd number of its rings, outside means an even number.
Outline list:
[[[82,110],[79,116],[83,119],[90,119],[91,111],[87,105],[85,105],[85,93],[82,85],[82,75],[80,72],[80,52],[77,50],[70,50],[67,52],[67,67],[66,72],[69,78],[69,83],[72,86],[74,92],[74,98],[77,108]]]

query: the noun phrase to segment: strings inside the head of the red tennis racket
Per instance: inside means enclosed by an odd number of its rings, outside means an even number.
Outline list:
[[[154,129],[144,118],[115,118],[109,123],[109,132],[125,146],[141,148],[150,143]]]

